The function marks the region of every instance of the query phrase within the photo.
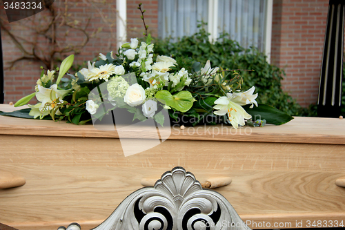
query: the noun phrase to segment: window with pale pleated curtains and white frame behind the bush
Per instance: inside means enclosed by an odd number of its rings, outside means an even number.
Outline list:
[[[227,32],[241,46],[269,55],[272,6],[273,0],[159,0],[159,37],[193,35],[204,21],[210,40]]]

